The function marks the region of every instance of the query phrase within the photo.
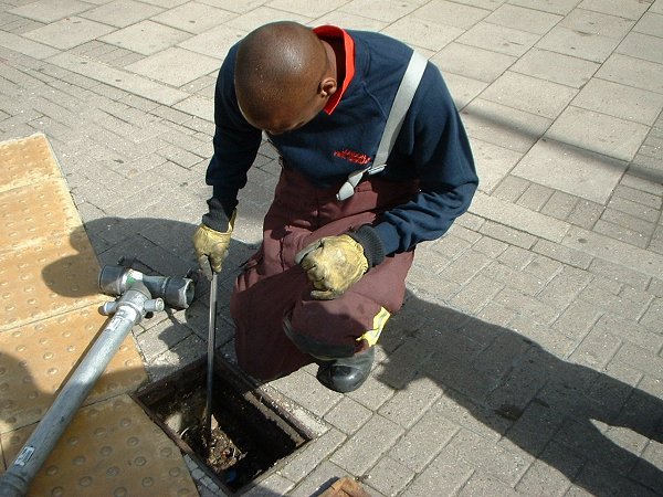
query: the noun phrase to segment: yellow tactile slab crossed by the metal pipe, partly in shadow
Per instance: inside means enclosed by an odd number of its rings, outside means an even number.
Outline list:
[[[39,421],[106,318],[96,306],[0,334],[0,433]],[[128,336],[85,403],[136,390],[147,379]]]

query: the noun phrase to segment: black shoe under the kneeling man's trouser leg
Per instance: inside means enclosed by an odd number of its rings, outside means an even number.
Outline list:
[[[370,347],[351,357],[334,359],[320,364],[316,378],[320,383],[335,392],[348,393],[357,390],[370,374],[376,350]]]

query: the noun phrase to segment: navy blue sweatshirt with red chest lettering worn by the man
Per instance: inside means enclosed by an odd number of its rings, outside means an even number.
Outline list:
[[[406,44],[379,33],[348,33],[355,42],[355,76],[334,112],[322,112],[294,131],[270,136],[286,163],[319,187],[340,187],[349,172],[366,168],[358,163],[361,158],[375,157],[412,53]],[[217,81],[214,155],[207,172],[213,198],[227,213],[238,203],[262,137],[236,104],[236,50],[238,45],[229,51]],[[472,151],[440,71],[431,63],[387,163],[379,175],[419,179],[420,192],[382,214],[373,226],[386,255],[440,237],[470,207],[478,183]]]

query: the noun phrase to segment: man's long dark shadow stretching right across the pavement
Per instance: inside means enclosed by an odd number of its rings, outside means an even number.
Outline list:
[[[662,399],[409,290],[381,343],[379,381],[407,389],[433,380],[443,391],[439,402],[459,404],[495,435],[487,446],[508,441],[592,495],[663,494]],[[451,411],[439,412],[463,425]],[[635,451],[657,446],[645,452],[653,464],[613,442],[622,429],[635,433],[627,438]]]

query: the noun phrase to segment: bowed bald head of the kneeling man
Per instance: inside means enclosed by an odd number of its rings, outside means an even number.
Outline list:
[[[315,117],[336,91],[334,52],[302,24],[263,25],[240,43],[235,91],[252,125],[290,130]]]

